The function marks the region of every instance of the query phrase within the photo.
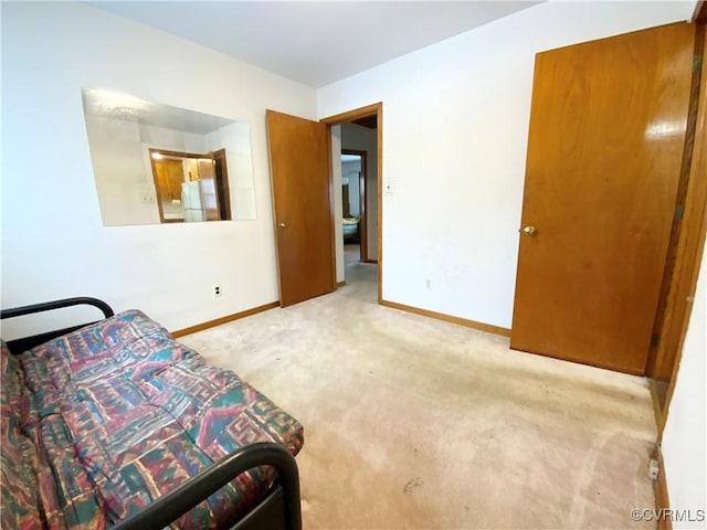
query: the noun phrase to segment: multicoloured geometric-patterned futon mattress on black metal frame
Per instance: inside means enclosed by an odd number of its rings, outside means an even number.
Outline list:
[[[2,351],[2,529],[101,529],[255,442],[296,455],[303,427],[137,310]],[[240,475],[173,528],[220,528],[275,478]]]

